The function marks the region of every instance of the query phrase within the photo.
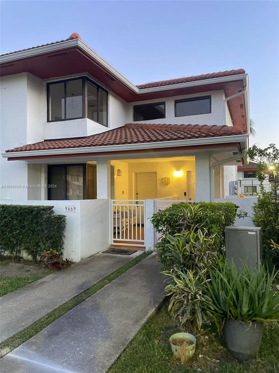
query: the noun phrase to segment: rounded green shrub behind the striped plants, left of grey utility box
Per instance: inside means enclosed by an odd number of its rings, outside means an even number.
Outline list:
[[[222,253],[225,245],[225,227],[234,224],[237,208],[238,206],[231,202],[177,203],[153,214],[150,221],[155,231],[162,236],[156,249],[164,268],[171,267],[166,256],[169,252],[166,235],[174,236],[189,230],[197,233],[198,229],[206,230],[209,236],[216,233],[212,251]]]

